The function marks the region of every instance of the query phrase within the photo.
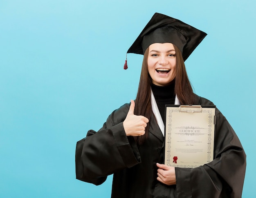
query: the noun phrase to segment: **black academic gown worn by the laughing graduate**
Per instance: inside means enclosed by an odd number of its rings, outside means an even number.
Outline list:
[[[197,97],[195,105],[213,105]],[[137,145],[123,121],[130,104],[113,111],[103,127],[88,131],[76,144],[76,178],[95,185],[113,175],[112,198],[239,198],[246,155],[236,133],[216,109],[214,160],[197,168],[175,168],[176,185],[157,181],[156,163],[164,163],[164,136],[152,116],[148,139]],[[86,196],[86,195],[85,195]]]

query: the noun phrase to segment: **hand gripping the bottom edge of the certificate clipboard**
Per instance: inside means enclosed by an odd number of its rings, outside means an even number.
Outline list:
[[[175,167],[157,163],[157,180],[166,185],[176,184]]]

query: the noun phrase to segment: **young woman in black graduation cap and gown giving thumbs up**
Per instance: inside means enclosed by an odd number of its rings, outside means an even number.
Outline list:
[[[241,197],[245,152],[218,109],[213,161],[197,168],[164,165],[165,105],[213,105],[193,93],[184,66],[205,36],[155,13],[128,50],[144,54],[136,100],[77,142],[77,179],[100,185],[114,174],[112,198]]]

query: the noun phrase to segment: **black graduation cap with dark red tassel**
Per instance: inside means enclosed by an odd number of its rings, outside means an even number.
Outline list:
[[[172,43],[182,52],[185,61],[207,33],[164,14],[155,13],[127,53],[144,54],[153,43]],[[124,69],[127,69],[127,54]]]

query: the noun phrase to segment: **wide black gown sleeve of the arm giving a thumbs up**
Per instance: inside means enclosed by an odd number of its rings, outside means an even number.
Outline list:
[[[126,136],[123,127],[128,109],[128,105],[120,107],[98,132],[90,130],[76,143],[76,179],[100,185],[115,171],[141,162],[135,140]]]

